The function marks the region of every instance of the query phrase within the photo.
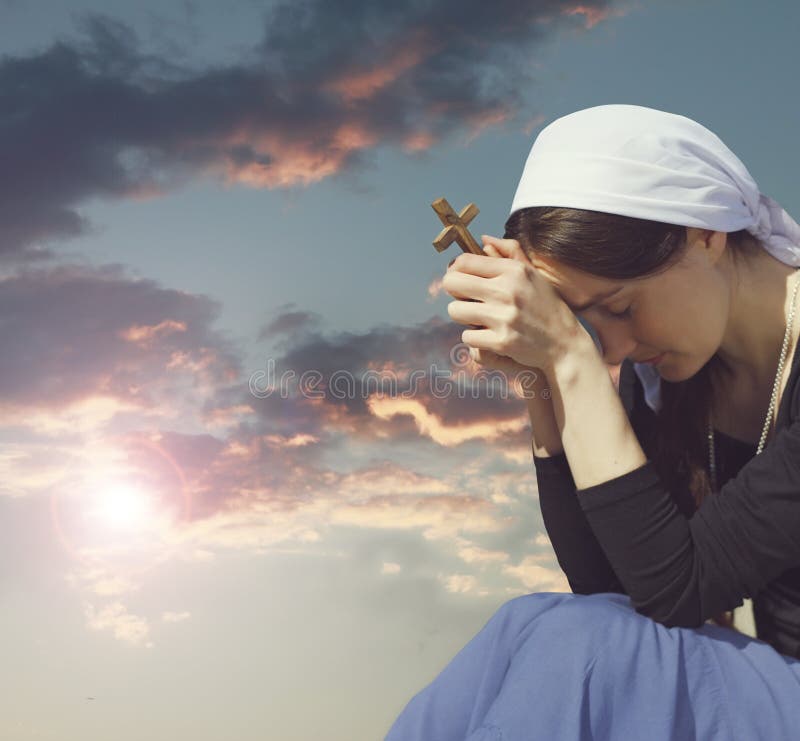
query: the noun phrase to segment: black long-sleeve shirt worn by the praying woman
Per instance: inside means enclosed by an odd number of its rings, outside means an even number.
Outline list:
[[[715,430],[722,488],[699,508],[653,467],[655,413],[628,360],[620,396],[648,455],[643,466],[576,491],[565,453],[534,456],[545,529],[572,591],[628,594],[670,627],[699,627],[748,597],[757,637],[800,658],[800,353],[759,455]]]

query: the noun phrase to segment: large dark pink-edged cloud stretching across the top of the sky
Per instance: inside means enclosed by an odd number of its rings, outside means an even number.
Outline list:
[[[90,228],[89,198],[153,196],[198,174],[304,186],[379,145],[425,150],[510,120],[539,39],[609,5],[286,0],[246,60],[203,70],[83,16],[79,40],[0,60],[0,257],[51,257],[42,242]]]

